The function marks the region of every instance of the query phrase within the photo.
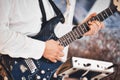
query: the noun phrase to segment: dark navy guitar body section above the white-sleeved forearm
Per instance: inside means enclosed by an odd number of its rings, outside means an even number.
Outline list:
[[[54,33],[54,28],[58,24],[58,22],[60,22],[60,18],[54,17],[51,20],[43,23],[42,30],[38,33],[38,35],[36,35],[32,38],[42,40],[42,41],[47,41],[49,39],[57,40],[58,38],[56,37],[56,35]]]

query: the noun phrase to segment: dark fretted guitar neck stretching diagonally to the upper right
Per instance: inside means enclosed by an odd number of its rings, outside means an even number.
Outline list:
[[[71,42],[75,41],[76,39],[80,38],[83,36],[84,33],[88,32],[90,30],[89,26],[88,26],[88,22],[89,21],[94,21],[94,20],[98,20],[98,21],[103,21],[105,19],[107,19],[108,17],[110,17],[111,15],[113,15],[115,12],[117,11],[116,6],[110,6],[109,8],[105,9],[104,11],[102,11],[101,13],[97,14],[96,16],[90,18],[88,21],[86,21],[85,23],[77,26],[75,29],[73,29],[72,31],[68,32],[67,34],[65,34],[64,36],[60,37],[58,39],[58,41],[60,42],[60,44],[62,46],[67,46],[68,44],[70,44]]]

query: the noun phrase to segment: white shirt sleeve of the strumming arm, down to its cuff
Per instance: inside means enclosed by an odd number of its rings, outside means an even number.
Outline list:
[[[0,0],[0,53],[12,57],[41,58],[45,43],[9,29],[11,0]]]

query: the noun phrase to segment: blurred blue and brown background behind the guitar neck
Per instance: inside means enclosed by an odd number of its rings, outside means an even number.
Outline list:
[[[66,0],[54,0],[64,13]],[[76,0],[73,24],[81,23],[92,12],[99,13],[113,4],[112,0]],[[70,44],[69,56],[110,61],[120,65],[120,13],[104,20],[105,28],[94,36],[87,36]],[[120,67],[102,80],[120,80]],[[73,80],[73,79],[67,79]]]

